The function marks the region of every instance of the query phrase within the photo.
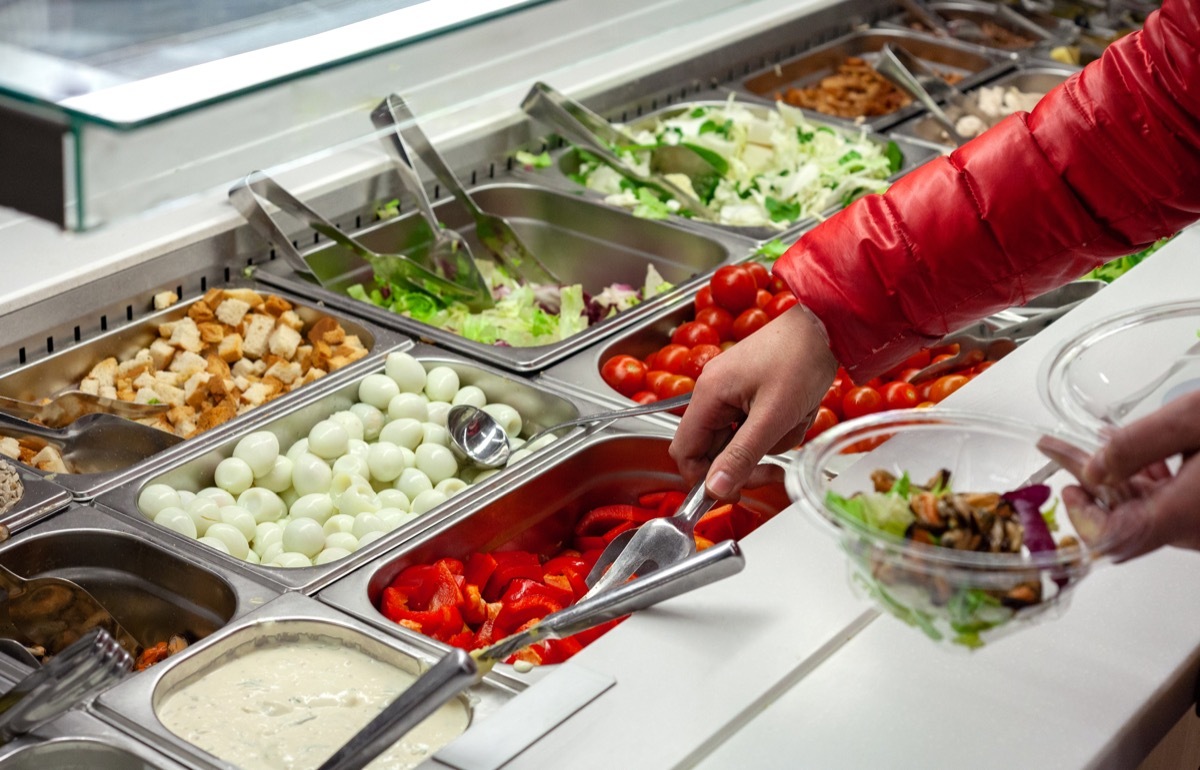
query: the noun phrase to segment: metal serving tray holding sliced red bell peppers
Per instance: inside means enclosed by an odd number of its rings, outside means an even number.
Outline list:
[[[431,652],[445,651],[448,648],[440,642],[394,624],[376,609],[383,589],[402,570],[444,557],[464,559],[476,551],[557,549],[590,507],[635,501],[637,495],[658,489],[683,489],[679,470],[667,453],[670,444],[667,435],[624,428],[595,433],[566,456],[530,462],[500,497],[446,517],[419,537],[322,590],[317,597],[400,634],[413,645]],[[742,503],[769,516],[791,505],[782,483],[746,489]],[[508,669],[499,667],[499,670]]]

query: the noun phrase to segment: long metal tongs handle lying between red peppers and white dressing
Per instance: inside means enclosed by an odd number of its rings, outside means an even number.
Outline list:
[[[496,662],[530,644],[578,633],[646,609],[736,575],[744,566],[745,557],[740,548],[727,540],[653,575],[602,594],[589,595],[574,607],[546,615],[536,625],[472,655],[454,649],[421,674],[412,687],[402,692],[318,770],[358,770],[367,765],[442,704],[480,681]]]

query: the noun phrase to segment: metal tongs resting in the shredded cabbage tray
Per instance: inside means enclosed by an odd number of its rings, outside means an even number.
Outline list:
[[[545,83],[534,83],[521,102],[530,118],[541,120],[568,140],[596,156],[606,166],[632,181],[664,192],[700,218],[713,219],[713,212],[691,191],[671,181],[666,174],[683,174],[696,182],[715,182],[716,169],[686,145],[655,148],[650,155],[650,173],[646,174],[626,162],[617,148],[637,146],[632,137],[617,128],[600,115],[556,91]]]

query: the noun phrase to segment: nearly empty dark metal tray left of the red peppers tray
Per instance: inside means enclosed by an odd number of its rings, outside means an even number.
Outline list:
[[[0,546],[0,564],[26,578],[79,583],[144,644],[176,633],[194,642],[278,594],[88,505]]]

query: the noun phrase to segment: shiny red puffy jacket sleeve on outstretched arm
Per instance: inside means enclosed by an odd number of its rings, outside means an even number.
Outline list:
[[[881,195],[775,266],[863,381],[962,325],[1200,217],[1200,0]]]

